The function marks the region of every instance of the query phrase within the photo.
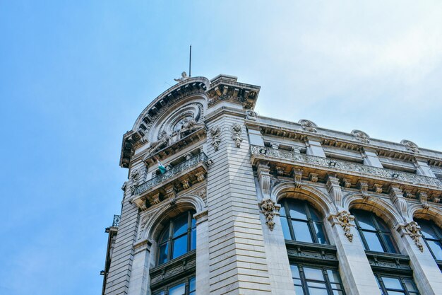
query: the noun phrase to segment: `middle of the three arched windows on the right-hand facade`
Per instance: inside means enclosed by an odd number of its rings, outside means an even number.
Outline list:
[[[386,224],[372,212],[352,210],[357,231],[365,250],[386,253],[398,253],[390,230]]]

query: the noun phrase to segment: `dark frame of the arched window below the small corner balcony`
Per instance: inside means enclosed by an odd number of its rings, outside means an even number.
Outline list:
[[[185,214],[187,214],[187,229],[184,233],[179,234],[178,236],[174,236],[174,226],[175,226],[175,221],[177,221],[177,219],[180,219],[181,216],[184,216]],[[167,225],[165,226],[165,228],[161,231],[160,236],[158,238],[157,241],[157,255],[155,258],[155,266],[160,266],[160,265],[164,265],[167,262],[170,262],[172,260],[176,260],[177,258],[180,258],[181,256],[186,255],[187,253],[191,252],[192,250],[196,249],[196,245],[195,245],[195,249],[192,248],[192,232],[193,230],[195,230],[195,235],[196,235],[196,222],[192,222],[193,219],[193,211],[189,210],[187,212],[183,212],[182,214],[179,214],[177,216],[174,216],[173,218],[169,219],[167,221]],[[168,229],[169,233],[169,237],[167,238],[167,240],[160,242],[160,239],[162,238],[162,236],[166,233],[166,228]],[[187,248],[186,248],[186,253],[179,255],[175,258],[173,258],[173,253],[174,253],[174,245],[175,245],[175,241],[177,241],[179,238],[186,236],[187,235]],[[196,238],[196,236],[195,236]],[[163,245],[167,246],[167,258],[165,260],[165,262],[160,262],[160,249]]]

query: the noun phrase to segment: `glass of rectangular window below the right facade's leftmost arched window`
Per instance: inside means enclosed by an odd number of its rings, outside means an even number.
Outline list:
[[[290,265],[295,293],[301,295],[345,295],[337,270]]]

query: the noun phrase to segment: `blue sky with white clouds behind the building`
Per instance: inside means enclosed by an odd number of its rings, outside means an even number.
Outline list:
[[[100,294],[121,139],[186,71],[442,150],[441,1],[0,0],[0,294]]]

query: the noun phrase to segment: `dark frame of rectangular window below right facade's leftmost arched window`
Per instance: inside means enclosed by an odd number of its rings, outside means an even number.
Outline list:
[[[338,267],[333,267],[333,266],[329,266],[329,265],[313,265],[310,263],[290,262],[290,270],[292,270],[292,265],[295,265],[298,267],[299,279],[301,280],[301,288],[302,288],[302,291],[304,292],[304,294],[299,294],[299,295],[310,295],[308,282],[325,283],[325,289],[327,290],[328,295],[333,295],[334,294],[333,291],[342,291],[342,295],[346,294],[345,287],[344,287],[344,284],[342,283],[342,278],[339,274]],[[312,269],[316,269],[316,270],[321,270],[321,272],[323,274],[324,281],[320,281],[320,280],[316,280],[316,279],[306,279],[304,267],[312,268]],[[333,270],[333,271],[338,272],[340,282],[338,282],[338,283],[337,282],[330,282],[330,278],[328,277],[328,270]],[[294,279],[295,278],[293,277],[293,274],[292,274],[292,280],[294,280]],[[332,284],[339,284],[340,290],[333,289]],[[293,286],[295,286],[294,282],[293,282]],[[298,286],[299,286],[299,284],[298,284]]]

